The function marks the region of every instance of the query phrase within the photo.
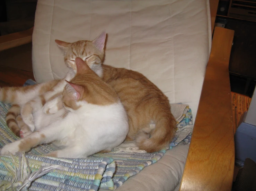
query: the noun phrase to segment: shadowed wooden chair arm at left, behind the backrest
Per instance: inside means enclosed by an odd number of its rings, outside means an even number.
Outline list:
[[[0,36],[0,51],[32,42],[33,28]]]

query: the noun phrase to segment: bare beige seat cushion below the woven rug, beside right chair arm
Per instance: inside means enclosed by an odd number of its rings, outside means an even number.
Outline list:
[[[117,188],[118,191],[171,191],[180,182],[185,167],[189,144],[166,151],[155,164],[142,169]],[[100,189],[99,191],[103,191]]]

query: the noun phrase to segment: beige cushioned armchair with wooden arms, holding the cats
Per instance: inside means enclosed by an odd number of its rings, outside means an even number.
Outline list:
[[[168,150],[117,190],[231,189],[233,31],[216,28],[212,40],[216,3],[210,14],[209,0],[38,0],[32,41],[37,82],[62,78],[67,71],[55,39],[94,40],[106,30],[104,64],[143,73],[170,103],[192,109],[191,143]],[[30,40],[25,35],[19,43]],[[0,50],[19,45],[2,42]]]

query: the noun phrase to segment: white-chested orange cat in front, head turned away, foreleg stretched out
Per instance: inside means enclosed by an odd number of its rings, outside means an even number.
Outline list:
[[[87,157],[100,151],[109,152],[124,141],[129,125],[116,92],[83,60],[76,58],[75,63],[77,74],[67,81],[61,96],[64,107],[58,111],[62,113],[61,119],[6,144],[1,154],[26,152],[39,144],[59,141],[64,149],[48,156]]]

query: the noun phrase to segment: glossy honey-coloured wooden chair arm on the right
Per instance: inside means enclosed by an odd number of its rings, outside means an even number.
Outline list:
[[[180,191],[231,190],[235,164],[229,57],[234,31],[215,27]]]

